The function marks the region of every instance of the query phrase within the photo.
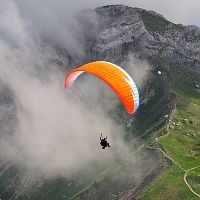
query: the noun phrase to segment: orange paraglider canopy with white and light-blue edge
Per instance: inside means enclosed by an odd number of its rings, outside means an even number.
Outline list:
[[[118,65],[106,61],[96,61],[78,67],[67,74],[64,87],[69,88],[84,72],[104,81],[119,97],[128,114],[139,107],[139,92],[130,75]]]

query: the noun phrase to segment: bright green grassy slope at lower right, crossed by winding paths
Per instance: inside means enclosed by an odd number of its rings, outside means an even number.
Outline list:
[[[200,94],[195,84],[200,82],[200,74],[169,66],[173,80],[173,92],[176,93],[176,110],[171,118],[168,134],[159,138],[165,152],[181,167],[188,170],[200,165]],[[178,124],[179,125],[174,125]],[[188,182],[195,192],[200,191],[200,169],[192,170]],[[172,199],[196,200],[184,183],[184,171],[176,165],[170,166],[165,173],[147,189],[144,196],[138,199]]]

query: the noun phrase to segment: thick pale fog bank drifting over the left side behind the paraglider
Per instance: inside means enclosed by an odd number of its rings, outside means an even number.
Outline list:
[[[65,73],[53,62],[59,57],[53,46],[84,55],[75,3],[42,2],[0,0],[0,81],[11,90],[16,112],[14,129],[1,129],[0,159],[52,177],[126,157],[123,127],[109,115],[119,105],[115,94],[89,76],[64,90]],[[95,16],[90,20],[96,24]],[[133,56],[127,62],[141,74]],[[139,85],[147,74],[139,76]],[[111,140],[109,151],[99,146],[100,132]]]

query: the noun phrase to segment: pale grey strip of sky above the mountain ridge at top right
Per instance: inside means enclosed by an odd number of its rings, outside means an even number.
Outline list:
[[[195,24],[200,26],[199,0],[104,0],[98,1],[98,3],[95,1],[95,3],[92,4],[93,6],[96,6],[96,4],[100,6],[116,3],[154,10],[175,23],[186,25]]]

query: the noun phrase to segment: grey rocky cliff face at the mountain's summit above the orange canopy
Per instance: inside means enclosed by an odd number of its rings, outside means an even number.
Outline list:
[[[134,53],[145,59],[164,58],[200,72],[198,27],[177,25],[153,11],[123,5],[99,7],[93,12],[98,29],[87,44],[93,60],[118,63]]]

